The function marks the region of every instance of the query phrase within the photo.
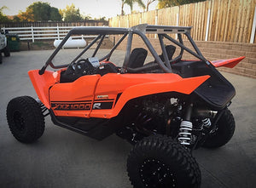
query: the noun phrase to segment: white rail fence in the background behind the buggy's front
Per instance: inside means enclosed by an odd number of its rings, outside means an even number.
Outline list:
[[[67,32],[76,26],[51,26],[51,27],[3,27],[3,31],[17,34],[21,41],[44,40],[44,39],[63,39]],[[72,38],[86,38],[87,36],[73,36]],[[91,36],[90,36],[91,37]]]

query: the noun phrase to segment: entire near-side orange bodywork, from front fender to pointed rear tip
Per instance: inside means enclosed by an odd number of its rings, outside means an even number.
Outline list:
[[[79,77],[60,83],[61,71],[29,71],[39,99],[60,117],[112,118],[131,99],[148,94],[178,92],[191,94],[210,76],[182,78],[173,73],[119,74]],[[118,99],[119,98],[119,99]]]

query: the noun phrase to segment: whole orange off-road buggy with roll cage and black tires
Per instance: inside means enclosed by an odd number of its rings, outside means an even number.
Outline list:
[[[42,69],[28,71],[38,99],[9,101],[11,133],[20,142],[38,140],[50,115],[55,125],[96,140],[117,134],[134,145],[127,159],[134,187],[200,187],[191,151],[225,145],[235,131],[228,106],[236,91],[216,67],[232,68],[244,57],[206,60],[190,31],[146,24],[74,28]],[[80,35],[90,43],[68,64],[55,65],[68,38]],[[106,39],[113,48],[102,54]],[[122,65],[112,60],[120,45]],[[188,54],[195,60],[184,60]]]

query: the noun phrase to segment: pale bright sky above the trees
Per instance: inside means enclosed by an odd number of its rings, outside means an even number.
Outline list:
[[[0,0],[0,8],[6,6],[8,9],[4,9],[3,13],[6,15],[15,15],[20,10],[23,12],[26,11],[26,7],[38,1],[49,3],[50,6],[57,9],[65,9],[67,5],[74,3],[75,7],[80,9],[80,14],[89,14],[92,18],[104,16],[111,18],[121,13],[121,0]],[[146,3],[147,0],[143,2]],[[155,9],[156,6],[157,1],[150,4],[149,9]],[[134,6],[133,10],[143,11],[138,6]],[[130,13],[130,7],[125,5],[125,14]]]

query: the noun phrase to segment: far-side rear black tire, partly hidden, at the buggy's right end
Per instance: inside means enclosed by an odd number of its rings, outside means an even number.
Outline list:
[[[235,119],[229,109],[224,110],[224,114],[217,122],[217,130],[210,135],[202,145],[207,148],[217,148],[227,144],[232,138],[236,128]]]

